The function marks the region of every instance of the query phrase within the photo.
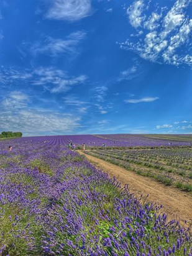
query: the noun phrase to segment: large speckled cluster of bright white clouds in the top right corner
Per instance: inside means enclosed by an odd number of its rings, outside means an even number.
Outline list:
[[[191,65],[192,57],[188,52],[192,20],[186,16],[186,9],[191,2],[192,0],[176,0],[167,14],[165,9],[161,9],[160,13],[152,12],[147,18],[144,1],[135,1],[127,9],[127,15],[132,27],[140,27],[145,35],[140,33],[137,42],[127,39],[120,44],[121,48],[134,50],[140,57],[152,62]],[[146,30],[149,32],[146,33]],[[184,52],[180,51],[181,45],[186,45]]]

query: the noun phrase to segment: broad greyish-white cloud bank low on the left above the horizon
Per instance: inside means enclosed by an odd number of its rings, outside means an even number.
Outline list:
[[[34,109],[28,106],[29,96],[13,91],[0,104],[1,130],[21,130],[33,132],[71,132],[80,127],[80,117],[62,114],[47,109]]]

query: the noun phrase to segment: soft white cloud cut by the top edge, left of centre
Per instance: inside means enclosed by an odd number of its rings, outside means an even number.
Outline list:
[[[45,17],[47,19],[78,21],[90,16],[90,0],[52,0],[52,5]]]

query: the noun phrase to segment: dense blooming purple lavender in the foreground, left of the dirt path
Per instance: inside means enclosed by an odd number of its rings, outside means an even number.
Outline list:
[[[128,186],[96,170],[68,149],[70,140],[100,146],[112,138],[0,142],[0,255],[192,255],[189,229],[167,222],[166,214],[158,214],[162,206],[141,203]],[[149,140],[139,137],[137,143]]]

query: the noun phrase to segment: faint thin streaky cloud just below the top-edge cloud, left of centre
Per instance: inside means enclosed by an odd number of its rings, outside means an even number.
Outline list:
[[[76,52],[76,46],[85,38],[84,31],[76,31],[63,39],[53,39],[47,37],[43,41],[34,43],[30,48],[32,54],[45,54],[56,57],[61,54],[70,54]]]

